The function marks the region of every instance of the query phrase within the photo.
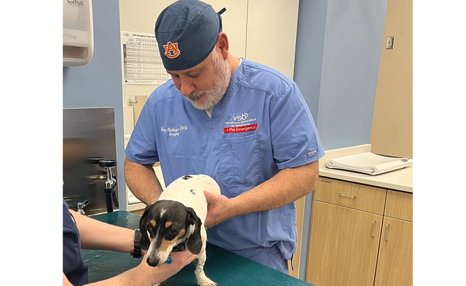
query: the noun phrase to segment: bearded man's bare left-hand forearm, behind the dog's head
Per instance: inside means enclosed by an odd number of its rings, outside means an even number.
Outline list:
[[[152,166],[128,158],[124,158],[124,179],[133,195],[146,205],[155,203],[163,191]]]

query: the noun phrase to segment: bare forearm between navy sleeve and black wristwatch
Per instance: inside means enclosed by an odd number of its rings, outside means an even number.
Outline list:
[[[76,221],[82,249],[134,251],[134,230],[106,224],[69,210]]]

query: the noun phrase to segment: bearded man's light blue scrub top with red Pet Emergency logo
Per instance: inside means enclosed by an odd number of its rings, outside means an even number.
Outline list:
[[[280,72],[241,59],[222,100],[212,110],[193,107],[172,80],[148,97],[125,150],[132,162],[160,162],[165,185],[206,174],[222,195],[236,197],[285,168],[324,155],[314,120],[297,85]],[[296,250],[295,202],[232,218],[207,231],[209,243],[229,251]]]

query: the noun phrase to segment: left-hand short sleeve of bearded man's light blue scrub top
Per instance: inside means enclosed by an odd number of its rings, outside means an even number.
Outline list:
[[[124,155],[131,162],[138,164],[158,162],[155,122],[150,99],[141,110]]]

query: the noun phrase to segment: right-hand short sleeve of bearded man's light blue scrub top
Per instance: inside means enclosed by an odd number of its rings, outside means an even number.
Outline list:
[[[271,111],[270,132],[280,170],[305,165],[325,155],[311,112],[295,82]]]

